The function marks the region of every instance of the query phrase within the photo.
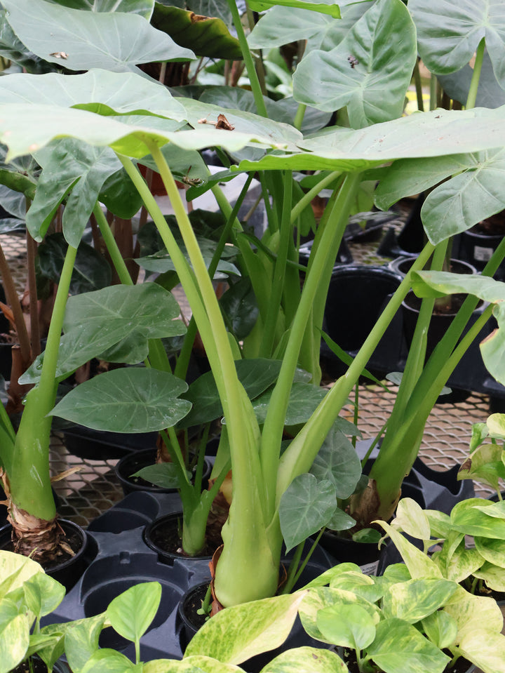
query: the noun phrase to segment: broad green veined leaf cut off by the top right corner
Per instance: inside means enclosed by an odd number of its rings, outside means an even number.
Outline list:
[[[505,14],[502,0],[409,0],[419,55],[428,69],[445,75],[462,69],[485,38],[494,74],[505,80]]]

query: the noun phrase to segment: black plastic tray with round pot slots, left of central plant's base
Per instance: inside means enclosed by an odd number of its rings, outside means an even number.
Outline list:
[[[161,583],[161,606],[152,627],[140,641],[142,661],[180,659],[180,623],[177,608],[187,589],[210,580],[209,558],[159,561],[158,554],[144,542],[144,526],[153,519],[181,509],[177,494],[130,493],[91,522],[88,528],[94,555],[74,588],[43,624],[82,619],[101,613],[114,597],[138,582]],[[337,563],[322,548],[309,563],[314,578]],[[100,646],[115,648],[134,660],[132,643],[112,629],[105,629]]]

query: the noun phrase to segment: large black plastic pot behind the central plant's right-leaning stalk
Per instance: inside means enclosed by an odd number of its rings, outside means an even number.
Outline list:
[[[351,356],[356,355],[401,280],[388,267],[335,267],[328,288],[323,331]],[[379,376],[397,371],[401,347],[401,316],[397,312],[372,354],[368,370]],[[325,342],[321,344],[321,361],[335,378],[346,371]]]

